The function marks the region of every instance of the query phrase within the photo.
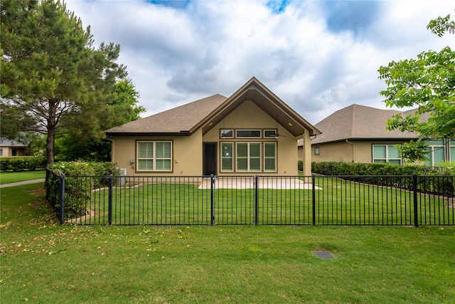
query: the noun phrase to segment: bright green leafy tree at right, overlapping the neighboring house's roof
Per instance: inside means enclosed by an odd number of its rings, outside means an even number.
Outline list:
[[[429,22],[430,29],[437,36],[454,33],[455,22],[450,15]],[[419,139],[400,146],[402,157],[415,160],[426,159],[429,152],[424,140],[455,137],[455,51],[449,46],[441,51],[422,52],[417,59],[392,61],[379,68],[380,79],[385,80],[387,107],[417,107],[402,117],[394,115],[387,120],[388,130],[416,132]]]

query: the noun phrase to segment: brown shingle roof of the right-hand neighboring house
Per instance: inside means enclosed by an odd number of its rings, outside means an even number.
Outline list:
[[[350,105],[333,112],[332,115],[318,122],[315,127],[322,133],[311,145],[344,140],[412,140],[417,138],[413,132],[389,131],[386,121],[393,115],[402,113],[405,117],[414,110],[401,112],[398,110],[382,110],[365,105]]]

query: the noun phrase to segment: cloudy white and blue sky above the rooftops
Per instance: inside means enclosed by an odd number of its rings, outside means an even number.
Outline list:
[[[120,45],[118,63],[146,117],[252,77],[312,124],[348,105],[385,108],[378,69],[455,47],[427,24],[455,0],[65,0],[95,40]]]

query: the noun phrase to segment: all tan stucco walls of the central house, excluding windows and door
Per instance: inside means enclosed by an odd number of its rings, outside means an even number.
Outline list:
[[[217,142],[217,170],[220,173],[220,142],[277,142],[277,172],[257,172],[257,174],[279,174],[279,175],[297,175],[297,138],[287,132],[281,125],[278,125],[279,138],[266,140],[260,139],[221,139],[220,129],[270,129],[277,128],[277,122],[274,118],[267,115],[254,103],[247,101],[242,103],[237,109],[225,117],[218,125],[215,125],[204,136],[202,128],[191,136],[178,137],[112,137],[112,162],[117,162],[118,167],[127,169],[127,175],[195,175],[203,174],[203,142]],[[300,138],[305,142],[310,142],[309,132],[305,132]],[[137,140],[172,140],[173,141],[173,172],[136,172],[135,164],[130,163],[130,159],[136,159],[136,142]],[[305,174],[311,174],[311,147],[307,145],[307,155],[304,157]],[[230,172],[224,174],[256,174],[255,172]]]

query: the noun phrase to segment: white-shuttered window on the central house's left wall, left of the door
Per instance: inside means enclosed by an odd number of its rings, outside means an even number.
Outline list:
[[[172,171],[171,142],[137,142],[137,171]]]

